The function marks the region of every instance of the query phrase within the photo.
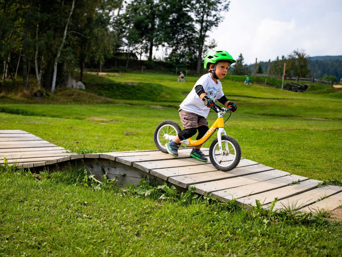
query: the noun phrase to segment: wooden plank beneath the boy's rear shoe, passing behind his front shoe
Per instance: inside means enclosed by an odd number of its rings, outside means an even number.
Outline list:
[[[116,157],[116,161],[119,163],[123,163],[129,166],[132,166],[133,163],[136,162],[146,162],[152,160],[170,160],[170,159],[184,159],[190,157],[190,152],[192,149],[180,150],[178,151],[178,157],[174,157],[171,154],[160,153],[154,155],[141,155],[141,156],[125,156],[125,157]],[[203,154],[209,156],[209,151],[202,151]]]

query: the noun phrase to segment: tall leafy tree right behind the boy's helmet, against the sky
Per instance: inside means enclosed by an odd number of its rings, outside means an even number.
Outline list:
[[[192,11],[196,27],[197,73],[200,72],[208,31],[223,21],[223,12],[229,9],[227,0],[193,0]],[[208,46],[210,48],[210,45]]]

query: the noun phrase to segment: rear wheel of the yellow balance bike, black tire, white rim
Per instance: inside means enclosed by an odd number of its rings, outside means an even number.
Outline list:
[[[164,120],[159,123],[154,131],[154,144],[157,146],[159,151],[167,153],[168,151],[165,148],[165,144],[168,143],[170,140],[162,139],[164,134],[167,133],[172,136],[176,136],[179,132],[181,132],[181,127],[176,122],[172,120]]]

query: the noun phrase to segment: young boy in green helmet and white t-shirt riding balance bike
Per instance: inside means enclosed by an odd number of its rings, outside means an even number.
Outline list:
[[[228,108],[233,107],[233,112],[236,111],[237,106],[229,102],[225,97],[221,82],[219,81],[219,79],[223,79],[227,75],[229,65],[235,62],[232,55],[224,50],[213,50],[207,53],[204,59],[204,68],[207,68],[209,73],[197,80],[194,88],[180,104],[179,116],[181,117],[184,129],[165,145],[169,154],[175,157],[178,156],[178,143],[194,136],[197,130],[196,140],[204,136],[209,129],[206,118],[216,99]],[[207,106],[203,104],[205,100],[209,102]],[[195,146],[190,156],[202,162],[207,162],[208,158],[202,153],[200,148],[201,145]]]

